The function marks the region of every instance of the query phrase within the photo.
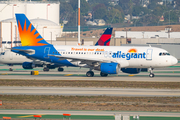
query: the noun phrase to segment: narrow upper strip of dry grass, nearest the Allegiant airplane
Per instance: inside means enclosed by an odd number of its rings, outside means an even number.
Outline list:
[[[0,80],[0,86],[128,87],[179,89],[180,82],[81,81],[81,80]]]

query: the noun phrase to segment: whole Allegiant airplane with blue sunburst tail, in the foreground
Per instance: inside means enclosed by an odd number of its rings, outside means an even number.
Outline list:
[[[11,51],[24,56],[55,64],[86,67],[87,77],[93,77],[92,70],[100,71],[102,77],[108,74],[138,74],[148,68],[153,78],[154,68],[175,65],[178,61],[168,51],[146,46],[57,46],[46,42],[24,14],[16,14],[22,46]]]

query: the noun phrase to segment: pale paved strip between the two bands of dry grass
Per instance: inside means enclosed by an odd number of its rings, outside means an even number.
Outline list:
[[[6,95],[65,95],[65,96],[129,96],[173,97],[180,96],[180,89],[96,88],[96,87],[13,87],[0,86]]]

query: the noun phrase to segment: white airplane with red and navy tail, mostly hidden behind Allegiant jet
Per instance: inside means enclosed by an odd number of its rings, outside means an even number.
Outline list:
[[[112,27],[107,28],[101,35],[99,40],[96,42],[95,46],[109,46],[112,34]],[[36,59],[27,58],[21,54],[11,52],[11,50],[6,50],[0,54],[0,63],[9,66],[22,65],[24,69],[33,69],[35,67],[44,67],[43,71],[49,71],[49,69],[55,69],[58,67],[58,71],[61,72],[64,69],[63,66],[54,63],[47,63],[46,61],[39,61]],[[9,71],[13,71],[10,67]]]

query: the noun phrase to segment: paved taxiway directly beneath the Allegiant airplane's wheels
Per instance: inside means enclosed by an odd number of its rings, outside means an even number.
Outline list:
[[[178,65],[180,65],[178,63]],[[28,80],[96,80],[96,81],[149,81],[149,82],[180,82],[180,66],[170,68],[155,69],[154,78],[149,78],[148,72],[139,74],[126,74],[120,72],[118,75],[108,75],[101,77],[99,71],[94,71],[94,77],[86,77],[87,68],[65,67],[63,72],[57,72],[57,69],[51,69],[49,72],[43,72],[42,68],[35,68],[39,75],[30,75],[32,70],[22,69],[22,66],[13,66],[14,71],[8,71],[9,66],[0,66],[1,79],[28,79]]]

